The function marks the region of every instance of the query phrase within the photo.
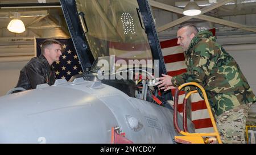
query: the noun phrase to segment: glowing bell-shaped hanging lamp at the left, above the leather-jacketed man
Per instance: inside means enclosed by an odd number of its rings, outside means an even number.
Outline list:
[[[14,33],[22,33],[24,32],[25,26],[22,20],[19,19],[20,14],[18,12],[14,12],[14,19],[8,24],[7,29]]]

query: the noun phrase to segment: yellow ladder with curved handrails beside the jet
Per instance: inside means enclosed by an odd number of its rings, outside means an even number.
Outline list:
[[[189,93],[187,95],[185,95],[185,98],[183,100],[183,129],[184,131],[182,131],[179,128],[179,125],[177,124],[177,104],[178,104],[178,100],[179,100],[179,92],[181,89],[183,89],[183,87],[188,86],[188,85],[192,85],[192,86],[196,86],[199,87],[199,89],[201,90],[201,92],[203,93],[204,96],[204,100],[205,103],[207,105],[207,110],[209,112],[209,116],[210,116],[210,120],[212,122],[213,125],[213,129],[214,132],[210,132],[210,133],[189,133],[188,129],[187,129],[187,110],[186,110],[186,105],[187,105],[187,100],[189,98],[189,96],[193,93],[197,93],[197,90],[193,90],[193,91],[189,91]],[[218,133],[218,129],[212,114],[212,110],[210,108],[210,104],[207,98],[207,95],[205,93],[205,90],[202,86],[200,86],[198,83],[195,82],[188,82],[188,83],[184,83],[183,85],[179,86],[178,89],[175,91],[175,97],[174,97],[174,127],[176,129],[176,131],[178,133],[180,133],[183,136],[175,136],[174,140],[177,143],[191,143],[191,144],[207,144],[207,143],[211,143],[212,139],[216,140],[219,144],[222,144],[222,141],[220,139],[220,135]],[[208,137],[205,138],[204,137]]]

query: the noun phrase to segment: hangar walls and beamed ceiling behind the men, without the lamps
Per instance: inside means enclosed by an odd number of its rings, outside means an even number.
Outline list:
[[[193,23],[199,29],[215,28],[217,42],[236,59],[256,93],[255,0],[195,1],[202,11],[202,14],[197,16],[183,15],[188,0],[150,0],[149,2],[160,41],[176,38],[177,27],[181,23]],[[15,12],[19,13],[26,27],[26,31],[22,33],[7,30]],[[1,0],[0,96],[15,87],[20,69],[35,56],[35,38],[69,37],[58,0]]]

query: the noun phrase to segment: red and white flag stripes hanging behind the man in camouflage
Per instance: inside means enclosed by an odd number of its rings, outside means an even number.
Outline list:
[[[210,30],[215,35],[215,29]],[[171,39],[160,42],[162,48],[162,54],[164,57],[164,63],[166,64],[167,74],[169,76],[177,76],[181,73],[187,72],[187,66],[185,65],[184,52],[177,44],[177,39]],[[175,90],[172,90],[172,96],[174,97]],[[179,94],[178,111],[182,115],[183,111],[183,99],[185,92],[181,91]],[[204,100],[198,93],[191,95],[191,119],[195,125],[196,132],[213,132],[212,122],[207,111]]]

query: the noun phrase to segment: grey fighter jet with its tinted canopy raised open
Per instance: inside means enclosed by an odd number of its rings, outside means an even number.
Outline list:
[[[175,143],[148,1],[60,3],[84,73],[1,97],[0,143]]]

